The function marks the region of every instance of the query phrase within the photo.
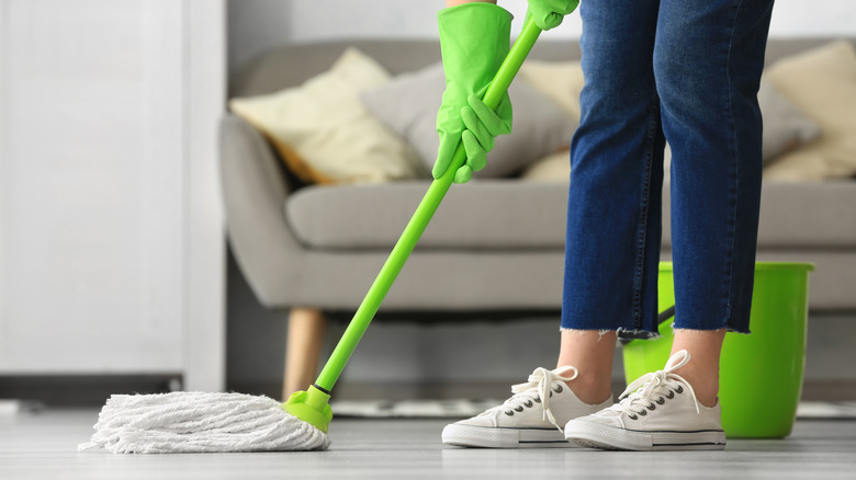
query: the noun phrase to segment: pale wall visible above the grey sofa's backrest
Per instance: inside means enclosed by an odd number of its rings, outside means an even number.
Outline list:
[[[234,72],[272,45],[334,38],[435,38],[446,0],[230,0],[229,65]],[[520,30],[527,0],[499,0]],[[579,15],[570,15],[547,39],[576,38]],[[856,37],[856,1],[778,0],[771,37]]]

